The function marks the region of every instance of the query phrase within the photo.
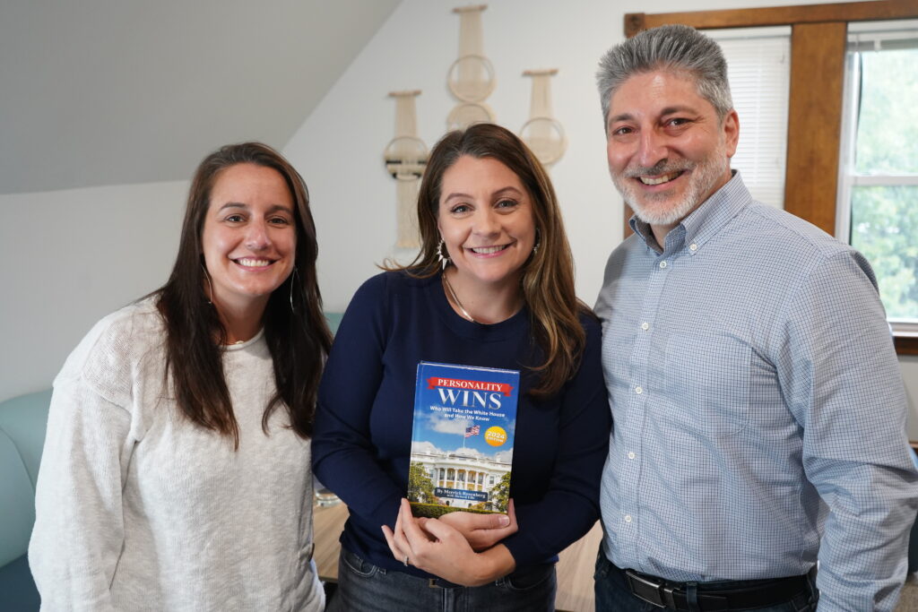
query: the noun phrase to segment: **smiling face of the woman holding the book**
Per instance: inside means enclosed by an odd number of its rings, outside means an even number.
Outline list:
[[[453,163],[443,172],[437,225],[457,281],[519,283],[535,244],[535,218],[532,197],[506,165],[470,155]]]

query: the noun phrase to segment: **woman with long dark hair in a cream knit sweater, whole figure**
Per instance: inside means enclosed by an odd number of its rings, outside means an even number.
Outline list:
[[[316,250],[276,151],[201,162],[169,281],[99,321],[54,381],[28,551],[42,609],[323,608]]]

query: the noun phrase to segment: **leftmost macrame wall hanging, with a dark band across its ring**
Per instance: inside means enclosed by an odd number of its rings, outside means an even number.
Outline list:
[[[418,95],[420,89],[389,92],[389,96],[396,99],[396,137],[389,140],[383,157],[386,171],[396,180],[398,249],[420,247],[415,204],[420,175],[427,163],[427,145],[418,138],[418,116],[414,104]]]

